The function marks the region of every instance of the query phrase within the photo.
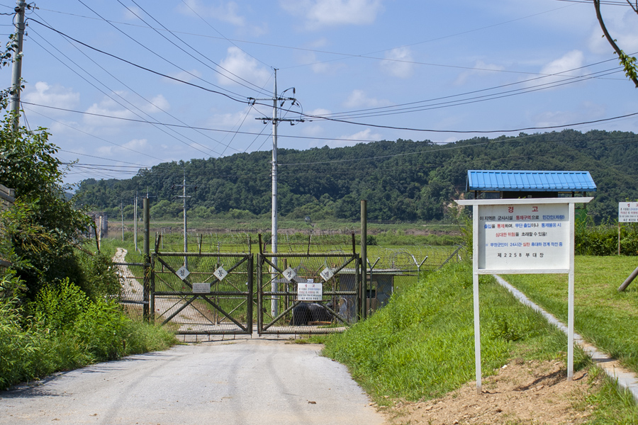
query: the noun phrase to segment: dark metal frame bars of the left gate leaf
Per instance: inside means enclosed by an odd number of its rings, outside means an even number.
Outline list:
[[[217,278],[214,275],[214,271],[205,271],[198,272],[200,275],[208,275],[208,278],[204,279],[205,281],[210,281],[211,290],[206,293],[194,293],[192,292],[194,282],[189,279],[190,276],[186,276],[186,278],[181,278],[177,270],[174,266],[171,266],[165,259],[171,257],[180,257],[180,258],[206,258],[206,257],[216,257],[218,259],[227,259],[227,258],[237,258],[238,261],[235,262],[228,270],[225,270],[228,273],[227,276],[235,277],[237,279],[237,275],[245,276],[246,281],[245,290],[240,290],[237,288],[238,285],[242,285],[243,283],[228,283],[225,286],[230,285],[231,288],[235,290],[215,290],[213,288],[218,288],[222,283],[222,280]],[[253,264],[254,258],[253,254],[228,254],[228,253],[184,253],[184,252],[158,252],[155,251],[150,257],[150,311],[154,312],[151,314],[152,319],[162,319],[162,325],[167,324],[172,321],[175,317],[178,316],[181,312],[184,312],[185,309],[191,308],[196,310],[203,317],[203,324],[191,324],[182,325],[179,329],[177,329],[177,334],[252,334],[253,328],[253,282],[254,282],[254,271]],[[240,266],[242,264],[246,264],[246,271],[240,271]],[[156,270],[157,266],[162,266],[161,270]],[[166,270],[164,270],[166,269]],[[167,273],[170,278],[172,276],[176,277],[183,284],[184,289],[189,290],[176,290],[172,288],[174,286],[168,282],[168,278],[164,279],[164,273]],[[192,274],[192,273],[191,273]],[[167,276],[167,277],[168,277]],[[211,280],[212,278],[212,280]],[[174,280],[174,278],[172,278]],[[172,290],[155,290],[157,280],[162,280],[165,286],[172,288]],[[223,278],[226,280],[226,278]],[[243,280],[243,279],[241,279]],[[177,282],[179,284],[179,282]],[[226,288],[228,289],[228,288]],[[162,299],[169,299],[175,301],[174,304],[164,312],[159,314],[159,317],[156,317],[157,314],[157,302]],[[223,317],[223,323],[218,320],[211,319],[208,317],[205,312],[203,312],[202,303],[198,301],[203,301],[204,307],[213,307],[216,312],[217,317],[218,314],[221,314]],[[240,300],[239,305],[233,308],[233,310],[226,311],[222,306],[222,302],[227,303],[228,300]],[[240,322],[235,317],[233,317],[233,313],[237,311],[242,305],[246,306],[246,314],[245,314],[245,323]],[[161,310],[161,309],[160,309]],[[164,317],[165,314],[165,317]],[[191,313],[195,314],[195,313]],[[230,323],[229,323],[230,322]],[[234,325],[234,327],[233,327]],[[192,329],[192,327],[198,327],[199,329]],[[230,329],[229,329],[230,326]],[[186,329],[183,329],[186,327]],[[189,329],[189,327],[191,329]]]

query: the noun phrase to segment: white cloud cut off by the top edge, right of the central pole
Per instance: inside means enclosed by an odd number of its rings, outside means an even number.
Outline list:
[[[369,25],[381,13],[381,0],[279,0],[281,8],[306,19],[306,28]]]

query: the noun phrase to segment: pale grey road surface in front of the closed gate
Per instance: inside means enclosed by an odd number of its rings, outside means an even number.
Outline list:
[[[0,424],[386,424],[315,344],[175,346],[0,392]]]

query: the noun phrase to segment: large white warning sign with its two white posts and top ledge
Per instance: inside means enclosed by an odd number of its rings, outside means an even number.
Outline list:
[[[574,204],[593,198],[457,200],[473,206],[474,360],[481,392],[481,325],[478,275],[493,273],[568,275],[567,378],[573,378]]]

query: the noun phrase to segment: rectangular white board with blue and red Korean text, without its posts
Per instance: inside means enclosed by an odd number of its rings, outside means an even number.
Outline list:
[[[478,205],[479,270],[569,268],[569,205]]]

